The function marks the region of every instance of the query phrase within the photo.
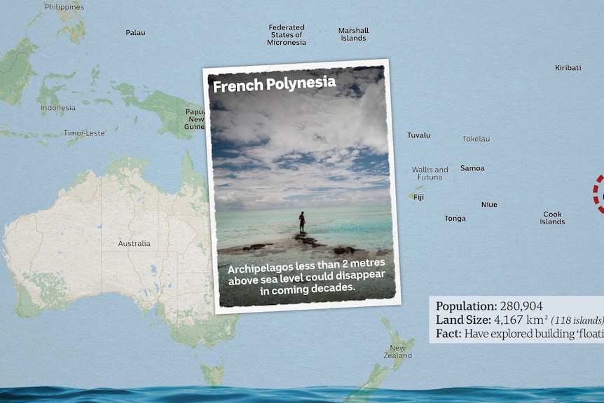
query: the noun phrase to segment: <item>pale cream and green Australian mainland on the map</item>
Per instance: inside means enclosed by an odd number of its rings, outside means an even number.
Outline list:
[[[118,292],[143,312],[157,305],[179,343],[212,347],[233,338],[238,315],[214,315],[203,176],[186,153],[171,195],[142,178],[144,166],[126,157],[102,176],[83,172],[48,210],[5,227],[15,313],[33,317]]]

